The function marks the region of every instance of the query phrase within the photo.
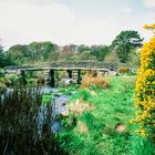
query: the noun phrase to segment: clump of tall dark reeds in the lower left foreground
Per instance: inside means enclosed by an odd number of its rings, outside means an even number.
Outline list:
[[[65,154],[51,131],[52,122],[52,106],[42,105],[39,90],[17,89],[4,94],[0,97],[0,153]]]

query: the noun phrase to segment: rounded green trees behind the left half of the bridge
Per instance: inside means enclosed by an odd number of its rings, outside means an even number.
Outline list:
[[[7,55],[16,64],[27,64],[35,61],[50,60],[51,53],[54,51],[54,45],[50,41],[32,42],[28,45],[16,44],[8,51]]]

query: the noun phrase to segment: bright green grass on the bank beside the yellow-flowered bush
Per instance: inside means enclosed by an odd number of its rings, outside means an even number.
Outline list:
[[[153,146],[137,137],[134,134],[135,126],[130,124],[135,111],[134,83],[133,76],[112,78],[108,90],[93,86],[80,89],[72,95],[72,104],[82,99],[93,106],[92,111],[76,117],[86,125],[89,132],[78,132],[78,125],[62,131],[59,134],[61,146],[71,155],[143,155],[147,146],[145,154],[153,155]],[[117,124],[125,125],[123,133],[116,132]]]

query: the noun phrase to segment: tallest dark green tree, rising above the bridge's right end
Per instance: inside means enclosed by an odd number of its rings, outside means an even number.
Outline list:
[[[128,54],[135,48],[142,45],[143,39],[137,31],[122,31],[112,42],[112,49],[117,52],[120,61],[125,63],[128,60]]]

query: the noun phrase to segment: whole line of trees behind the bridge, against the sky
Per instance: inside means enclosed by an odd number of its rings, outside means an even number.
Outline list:
[[[137,31],[122,31],[112,41],[111,45],[76,45],[69,44],[59,46],[51,41],[32,42],[30,44],[16,44],[9,50],[3,51],[0,45],[0,68],[6,65],[23,65],[37,62],[52,61],[75,61],[75,60],[95,60],[95,61],[115,61],[117,56],[120,62],[130,61],[131,53],[142,46],[143,39]],[[114,58],[114,60],[112,59]]]

